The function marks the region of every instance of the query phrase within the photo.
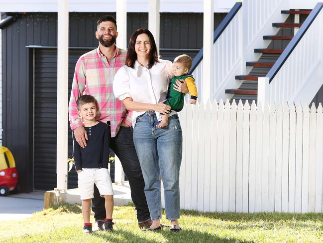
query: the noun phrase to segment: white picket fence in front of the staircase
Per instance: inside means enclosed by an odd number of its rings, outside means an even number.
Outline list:
[[[323,108],[185,105],[181,208],[323,212]]]

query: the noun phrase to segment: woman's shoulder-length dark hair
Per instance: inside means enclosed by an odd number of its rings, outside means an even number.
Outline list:
[[[149,53],[148,68],[152,68],[152,66],[155,64],[155,62],[158,62],[157,46],[156,46],[154,36],[152,35],[152,33],[148,29],[145,29],[145,28],[138,28],[136,31],[134,31],[132,33],[130,40],[129,40],[127,58],[125,60],[125,64],[128,67],[134,68],[134,63],[137,60],[137,53],[134,49],[134,45],[136,44],[136,39],[139,34],[147,34],[149,37],[151,50]]]

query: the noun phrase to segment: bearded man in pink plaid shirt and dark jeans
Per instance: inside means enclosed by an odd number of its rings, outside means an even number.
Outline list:
[[[99,47],[82,55],[75,67],[69,115],[71,129],[82,148],[87,145],[88,134],[77,113],[76,100],[90,94],[98,101],[97,120],[108,123],[111,130],[110,148],[120,159],[129,180],[131,198],[137,212],[140,228],[151,225],[150,214],[144,194],[144,180],[132,141],[131,112],[126,111],[121,101],[113,95],[112,82],[116,71],[125,64],[126,50],[118,49],[116,21],[111,16],[102,16],[97,22],[96,37]],[[106,218],[105,199],[100,197],[95,186],[92,210],[96,220],[94,230],[103,230]]]

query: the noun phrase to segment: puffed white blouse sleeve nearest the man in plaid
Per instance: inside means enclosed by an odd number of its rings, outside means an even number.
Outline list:
[[[126,66],[121,67],[114,75],[113,93],[119,100],[124,100],[127,97],[132,98],[130,92],[130,76]]]

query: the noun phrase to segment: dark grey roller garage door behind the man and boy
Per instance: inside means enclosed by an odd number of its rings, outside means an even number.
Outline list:
[[[69,51],[69,94],[78,58],[89,49]],[[34,189],[56,187],[57,49],[34,49]],[[68,121],[66,126],[69,127]],[[68,137],[68,157],[72,157],[72,132]],[[67,161],[67,158],[66,158]],[[66,162],[67,163],[67,162]],[[111,178],[114,178],[111,168]],[[68,188],[77,187],[74,168],[68,173]]]

